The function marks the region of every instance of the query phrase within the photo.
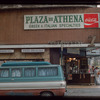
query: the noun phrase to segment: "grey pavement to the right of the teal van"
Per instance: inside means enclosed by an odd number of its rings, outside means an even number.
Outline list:
[[[68,85],[65,97],[100,97],[100,85]]]

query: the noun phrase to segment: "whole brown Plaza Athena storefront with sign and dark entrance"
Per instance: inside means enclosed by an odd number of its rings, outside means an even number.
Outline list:
[[[1,63],[48,61],[62,65],[69,84],[89,83],[86,51],[100,47],[100,9],[22,8],[0,8]]]

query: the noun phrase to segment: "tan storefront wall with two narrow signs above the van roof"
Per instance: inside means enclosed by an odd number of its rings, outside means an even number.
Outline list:
[[[48,61],[49,49],[0,49],[0,65],[5,61]]]

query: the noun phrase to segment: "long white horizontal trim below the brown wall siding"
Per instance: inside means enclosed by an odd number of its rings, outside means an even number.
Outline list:
[[[63,44],[63,47],[88,47],[90,44]],[[100,47],[100,43],[94,43],[94,47]],[[61,44],[22,44],[22,45],[0,45],[2,48],[61,48]]]

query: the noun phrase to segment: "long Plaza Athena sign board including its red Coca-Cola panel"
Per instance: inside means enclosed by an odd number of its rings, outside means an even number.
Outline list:
[[[100,14],[24,15],[24,29],[100,28]]]

